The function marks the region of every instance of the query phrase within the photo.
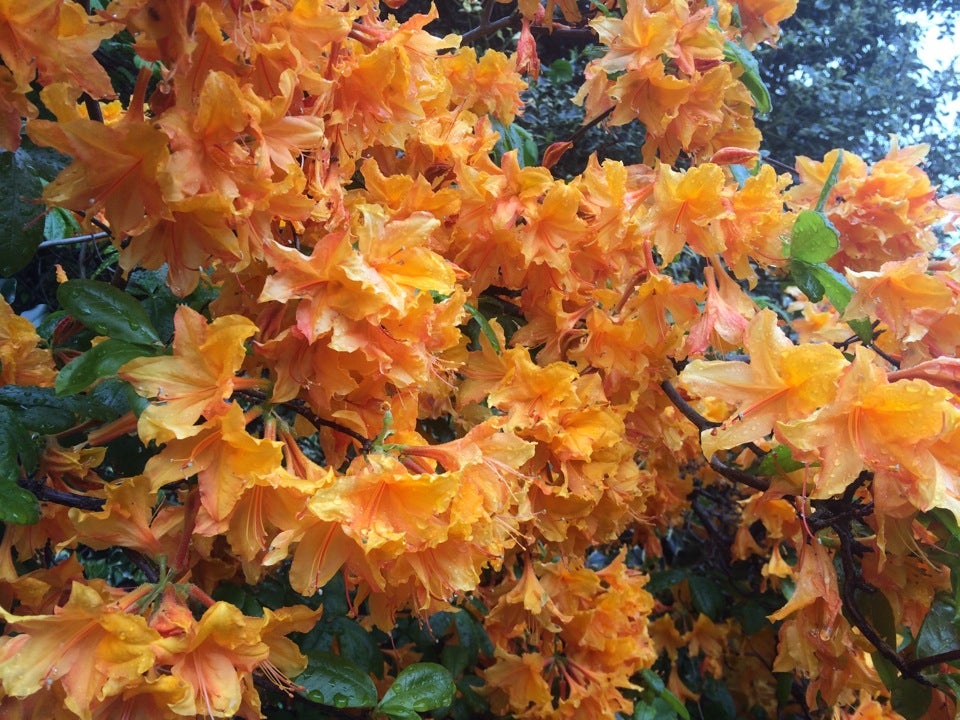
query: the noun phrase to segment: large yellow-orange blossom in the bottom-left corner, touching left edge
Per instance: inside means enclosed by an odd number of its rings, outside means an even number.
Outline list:
[[[24,698],[56,683],[67,708],[89,718],[95,704],[141,682],[154,666],[159,635],[138,616],[74,582],[52,615],[18,616],[0,607],[0,684]]]

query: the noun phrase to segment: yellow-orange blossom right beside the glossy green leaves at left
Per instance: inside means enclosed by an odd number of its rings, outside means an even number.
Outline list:
[[[139,358],[120,368],[119,377],[139,395],[157,402],[140,415],[137,430],[144,442],[167,442],[200,432],[200,417],[227,412],[224,402],[235,390],[257,387],[255,378],[238,378],[246,351],[244,341],[257,332],[245,317],[219,317],[209,325],[186,305],[173,319],[173,356]]]

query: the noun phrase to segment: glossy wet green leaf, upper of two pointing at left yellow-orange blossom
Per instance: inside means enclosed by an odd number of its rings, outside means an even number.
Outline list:
[[[60,304],[100,335],[135,345],[159,345],[160,338],[140,303],[109,283],[69,280],[57,288]]]

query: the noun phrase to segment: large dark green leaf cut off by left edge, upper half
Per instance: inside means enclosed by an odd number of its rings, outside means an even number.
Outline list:
[[[36,200],[43,181],[26,149],[0,152],[0,275],[9,277],[30,262],[43,241],[43,206]]]

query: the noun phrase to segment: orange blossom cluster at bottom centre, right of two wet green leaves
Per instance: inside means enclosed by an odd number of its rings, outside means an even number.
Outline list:
[[[530,720],[629,713],[633,704],[622,690],[635,687],[630,677],[656,659],[647,634],[653,598],[642,588],[645,578],[626,568],[623,553],[599,571],[579,562],[536,562],[532,568],[540,597],[516,588],[503,593],[484,623],[496,647],[496,661],[483,671],[492,706]],[[527,590],[528,572],[519,581]],[[553,611],[524,615],[525,608],[548,603]],[[531,650],[511,652],[515,639]],[[538,667],[541,680],[533,677]],[[523,695],[524,688],[533,694]]]

